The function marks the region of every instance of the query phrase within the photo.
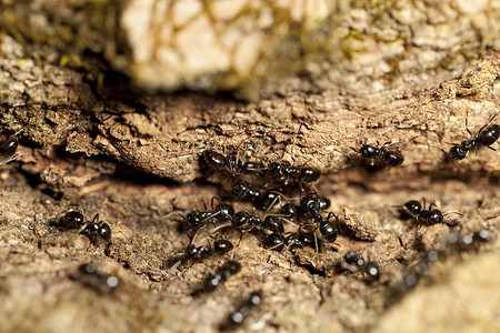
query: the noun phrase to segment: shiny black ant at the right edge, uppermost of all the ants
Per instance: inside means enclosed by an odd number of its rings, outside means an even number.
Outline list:
[[[441,149],[442,152],[452,160],[463,160],[472,149],[476,149],[476,155],[478,155],[478,149],[481,145],[496,151],[496,149],[492,148],[491,144],[493,144],[498,140],[498,138],[500,138],[500,127],[498,124],[488,127],[488,124],[493,121],[498,113],[500,113],[500,111],[497,112],[481,129],[479,129],[477,135],[472,135],[472,132],[467,128],[468,114],[466,117],[466,130],[470,134],[470,139],[463,140],[460,144],[453,144],[448,153],[443,149]]]

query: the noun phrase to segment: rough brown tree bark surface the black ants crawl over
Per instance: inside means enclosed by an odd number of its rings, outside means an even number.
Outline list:
[[[254,290],[242,330],[499,331],[499,152],[441,151],[500,111],[499,16],[498,1],[3,1],[1,139],[20,131],[21,147],[0,167],[0,331],[212,332]],[[364,165],[366,142],[403,142],[404,163]],[[321,169],[339,240],[318,255],[246,233],[169,270],[192,234],[164,214],[228,194],[207,149]],[[394,205],[421,198],[492,241],[458,251],[450,226],[402,220]],[[49,223],[72,205],[111,242]],[[443,255],[403,292],[431,249]],[[340,272],[349,250],[380,280]],[[229,259],[241,272],[191,296]],[[120,287],[69,279],[90,261]]]

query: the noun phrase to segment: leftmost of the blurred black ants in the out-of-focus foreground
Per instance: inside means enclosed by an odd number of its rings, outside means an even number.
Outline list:
[[[69,274],[69,278],[80,281],[88,287],[93,287],[97,292],[113,292],[118,289],[120,280],[117,276],[104,274],[96,269],[91,263],[82,264],[77,272]]]

